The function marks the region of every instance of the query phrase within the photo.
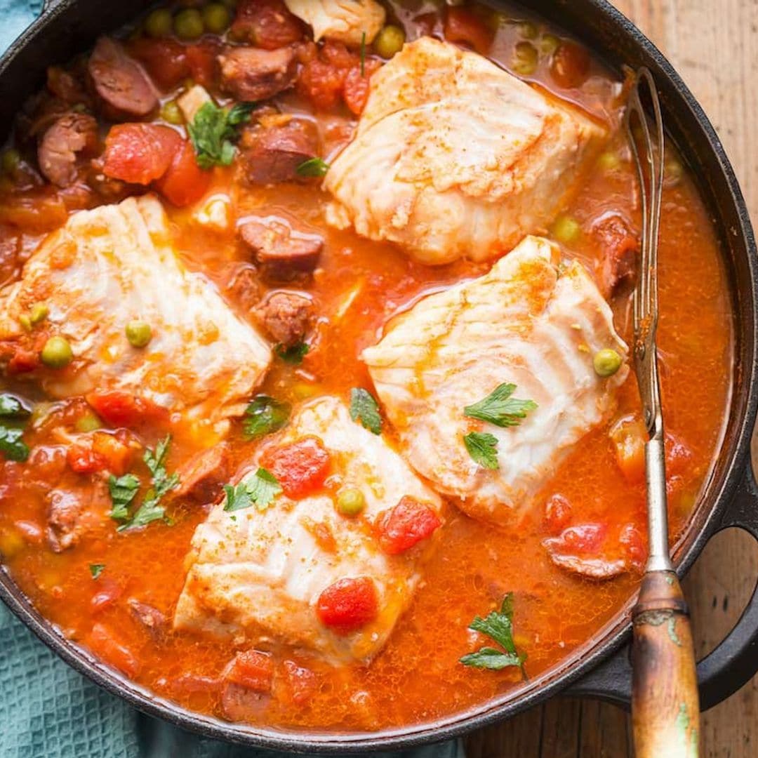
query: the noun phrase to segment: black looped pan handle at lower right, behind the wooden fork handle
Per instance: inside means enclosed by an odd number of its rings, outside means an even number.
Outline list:
[[[735,499],[713,534],[739,527],[758,540],[758,484],[748,462]],[[724,640],[697,664],[700,709],[718,705],[747,684],[758,671],[758,584],[739,621]],[[565,691],[569,697],[593,697],[625,710],[631,703],[629,645],[584,675]]]

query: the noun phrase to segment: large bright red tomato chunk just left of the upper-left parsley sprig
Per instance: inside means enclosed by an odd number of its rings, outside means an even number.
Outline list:
[[[105,138],[103,173],[133,184],[162,177],[182,146],[182,138],[161,124],[117,124]]]

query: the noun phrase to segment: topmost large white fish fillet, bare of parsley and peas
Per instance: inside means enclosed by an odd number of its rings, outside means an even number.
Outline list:
[[[371,77],[327,220],[414,258],[476,261],[543,230],[605,130],[474,52],[422,37]]]

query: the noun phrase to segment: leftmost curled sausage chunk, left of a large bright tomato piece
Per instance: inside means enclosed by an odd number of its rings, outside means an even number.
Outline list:
[[[56,186],[71,186],[77,180],[77,155],[95,152],[97,144],[97,121],[87,114],[66,113],[39,142],[39,170]]]

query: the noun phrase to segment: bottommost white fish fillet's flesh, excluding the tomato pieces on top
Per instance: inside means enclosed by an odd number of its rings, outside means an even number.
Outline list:
[[[289,500],[283,494],[265,512],[255,507],[211,511],[193,537],[189,572],[174,616],[178,629],[211,634],[246,632],[249,637],[309,647],[332,662],[367,661],[389,637],[409,605],[420,562],[434,535],[408,553],[385,555],[371,533],[377,514],[412,496],[440,513],[442,503],[382,437],[366,431],[333,397],[304,406],[283,432],[282,443],[315,435],[330,453],[327,491]],[[278,443],[278,441],[277,441]],[[257,470],[257,456],[239,479]],[[340,487],[359,488],[364,512],[337,512]],[[313,525],[329,528],[336,550],[324,550]],[[310,527],[310,528],[309,528]],[[318,620],[315,605],[335,581],[368,576],[379,596],[375,622],[351,634],[335,634]]]

